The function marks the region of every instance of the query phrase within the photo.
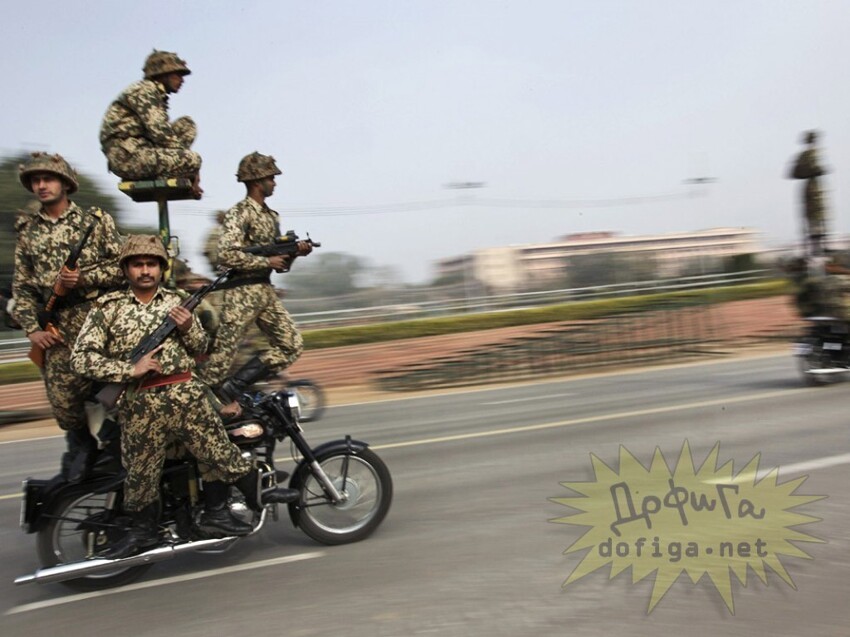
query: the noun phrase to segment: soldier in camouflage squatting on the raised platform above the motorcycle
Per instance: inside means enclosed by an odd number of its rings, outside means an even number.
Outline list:
[[[176,53],[154,49],[143,72],[144,79],[122,92],[103,117],[100,147],[109,170],[130,180],[187,177],[200,198],[201,156],[190,150],[195,122],[168,119],[168,96],[180,90],[191,71]]]

